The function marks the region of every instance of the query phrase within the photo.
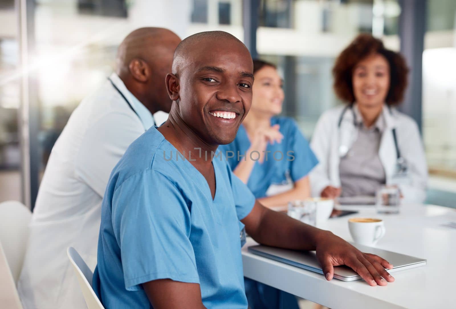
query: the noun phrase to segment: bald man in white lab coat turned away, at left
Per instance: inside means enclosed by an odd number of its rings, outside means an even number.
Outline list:
[[[67,247],[95,268],[109,174],[130,143],[155,124],[152,115],[169,112],[165,77],[180,41],[163,28],[131,32],[119,46],[116,73],[68,120],[52,149],[31,220],[18,282],[25,308],[85,308]]]

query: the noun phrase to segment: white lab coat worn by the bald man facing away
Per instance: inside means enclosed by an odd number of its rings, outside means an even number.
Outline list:
[[[135,111],[107,80],[74,110],[52,148],[18,282],[26,309],[86,308],[67,247],[73,246],[93,271],[109,174],[127,147],[154,124],[122,80],[116,74],[110,79]]]

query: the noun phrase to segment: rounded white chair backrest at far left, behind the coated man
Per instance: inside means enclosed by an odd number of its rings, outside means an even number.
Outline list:
[[[31,212],[21,202],[0,203],[0,242],[15,283],[24,263],[30,220]]]

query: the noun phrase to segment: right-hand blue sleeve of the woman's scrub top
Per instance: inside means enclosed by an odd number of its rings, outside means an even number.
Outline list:
[[[292,155],[295,157],[294,160],[291,161],[290,177],[293,182],[296,182],[307,176],[312,168],[318,164],[318,159],[295,121],[292,122],[290,129],[290,136],[292,136],[291,150],[293,150]],[[288,156],[286,156],[286,158],[292,159]]]

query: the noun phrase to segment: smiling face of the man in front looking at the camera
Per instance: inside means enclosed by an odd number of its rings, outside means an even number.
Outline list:
[[[202,40],[179,73],[178,110],[207,144],[228,144],[252,103],[253,62],[233,39]]]

